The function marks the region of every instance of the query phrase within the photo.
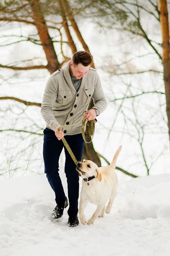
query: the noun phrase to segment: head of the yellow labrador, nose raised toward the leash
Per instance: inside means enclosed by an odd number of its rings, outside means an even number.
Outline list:
[[[82,162],[77,163],[76,167],[77,172],[84,177],[98,177],[98,180],[101,182],[102,181],[102,174],[99,172],[99,167],[96,165],[96,163],[92,162],[91,160],[84,160]],[[84,176],[85,175],[85,176]]]

